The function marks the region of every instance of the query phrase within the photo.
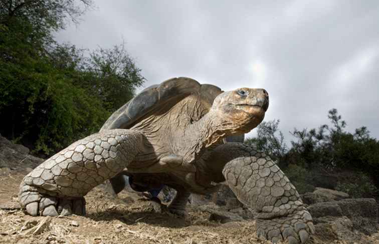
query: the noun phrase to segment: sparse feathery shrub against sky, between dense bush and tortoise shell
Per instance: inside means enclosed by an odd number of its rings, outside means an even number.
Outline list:
[[[96,96],[108,111],[115,111],[134,96],[135,87],[144,77],[124,43],[112,48],[98,48],[85,56],[85,49],[68,43],[55,45],[49,51],[50,62],[65,69],[65,75],[75,84]]]

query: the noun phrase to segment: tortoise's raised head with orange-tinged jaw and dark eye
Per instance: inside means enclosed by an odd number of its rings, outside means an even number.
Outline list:
[[[244,87],[219,94],[211,111],[222,118],[221,126],[247,133],[263,120],[268,105],[265,89]]]

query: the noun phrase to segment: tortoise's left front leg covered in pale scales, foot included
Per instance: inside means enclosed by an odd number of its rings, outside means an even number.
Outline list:
[[[122,171],[141,150],[142,140],[140,132],[113,129],[74,142],[24,177],[22,209],[33,216],[84,215],[83,196]]]

